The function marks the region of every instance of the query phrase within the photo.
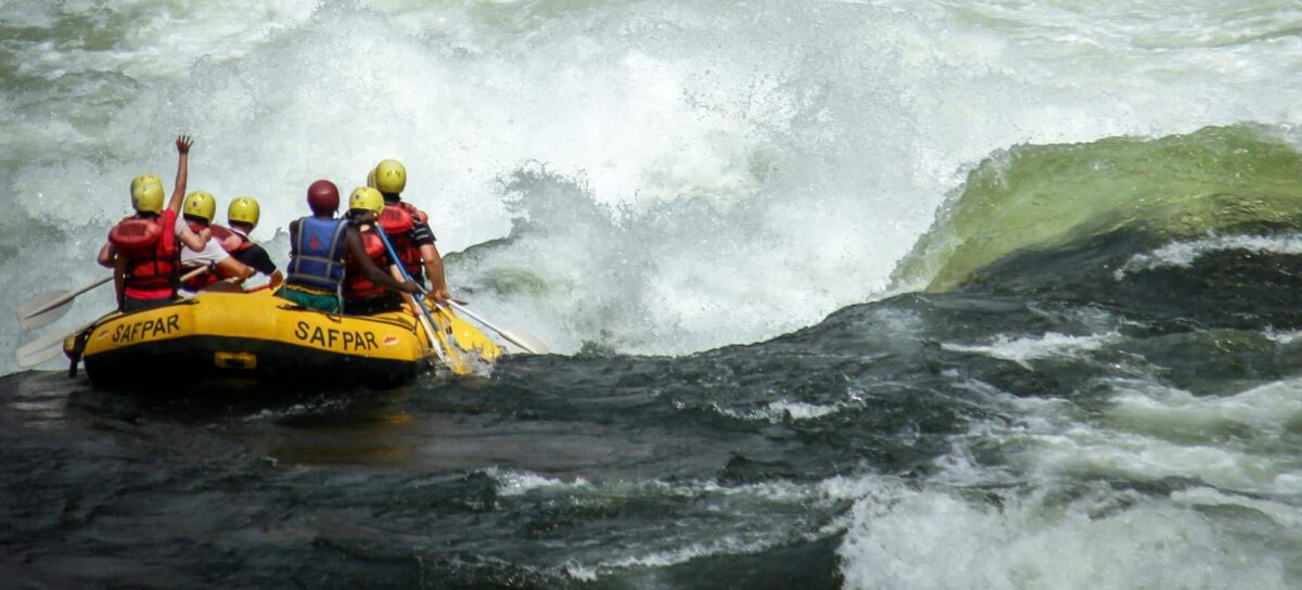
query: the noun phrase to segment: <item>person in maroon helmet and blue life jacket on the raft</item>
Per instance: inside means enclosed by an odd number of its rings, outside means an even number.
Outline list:
[[[365,276],[376,285],[405,293],[418,290],[415,283],[398,283],[375,266],[366,255],[361,232],[346,219],[335,219],[339,188],[333,182],[312,182],[307,188],[307,206],[312,215],[289,224],[288,276],[276,297],[318,311],[340,313],[349,259],[355,260],[354,277]]]

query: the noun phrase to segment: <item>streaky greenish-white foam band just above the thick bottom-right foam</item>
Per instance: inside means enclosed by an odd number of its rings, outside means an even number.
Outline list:
[[[1070,400],[978,389],[983,404],[1006,414],[976,421],[954,438],[954,453],[937,461],[936,481],[1176,477],[1254,494],[1295,491],[1302,468],[1289,440],[1290,428],[1302,419],[1302,382],[1220,397],[1194,397],[1144,379],[1104,384],[1115,393],[1101,412]],[[997,469],[984,465],[974,458],[973,447],[986,455],[997,448],[1005,462]]]

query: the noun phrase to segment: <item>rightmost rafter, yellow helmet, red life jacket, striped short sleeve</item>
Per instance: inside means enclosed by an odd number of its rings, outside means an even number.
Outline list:
[[[430,218],[414,204],[402,201],[401,197],[406,188],[406,168],[401,162],[384,160],[376,164],[372,173],[375,188],[384,195],[380,225],[398,253],[402,267],[422,287],[426,285],[427,276],[430,279],[430,298],[444,305],[449,300],[448,280],[443,271],[443,257],[439,255],[439,249],[434,245]]]

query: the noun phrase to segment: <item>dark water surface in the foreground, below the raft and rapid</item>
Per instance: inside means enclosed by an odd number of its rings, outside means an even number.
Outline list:
[[[1116,275],[1142,245],[1021,254],[952,293],[681,358],[514,357],[488,379],[395,391],[148,397],[12,375],[4,573],[20,587],[963,587],[953,564],[891,569],[939,543],[928,526],[990,527],[906,514],[940,494],[1012,521],[1010,543],[1174,511],[1172,535],[1187,534],[1181,517],[1219,531],[1200,550],[1224,563],[1191,587],[1234,568],[1288,587],[1297,259],[1229,247]],[[1277,415],[1234,414],[1254,402]],[[1219,499],[1190,505],[1206,494]],[[1086,499],[1091,516],[1068,518]],[[906,516],[915,538],[876,537]]]

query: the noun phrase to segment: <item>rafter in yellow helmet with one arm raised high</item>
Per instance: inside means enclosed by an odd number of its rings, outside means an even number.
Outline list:
[[[138,176],[132,181],[135,215],[113,225],[108,232],[108,244],[99,250],[99,263],[113,268],[117,307],[124,313],[176,301],[181,251],[202,250],[207,244],[207,234],[197,234],[177,223],[193,145],[186,135],[176,139],[176,186],[167,207],[163,206],[161,178],[156,175]]]

